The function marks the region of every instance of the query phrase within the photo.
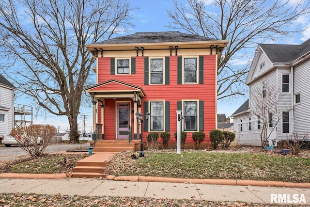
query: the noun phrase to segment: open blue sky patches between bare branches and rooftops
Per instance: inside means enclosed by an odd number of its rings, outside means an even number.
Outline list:
[[[184,1],[184,0],[182,0]],[[207,3],[211,3],[212,0],[206,0]],[[166,26],[169,23],[169,18],[167,15],[167,9],[173,9],[172,0],[129,0],[130,4],[133,7],[139,7],[140,11],[136,11],[134,16],[137,21],[134,21],[135,27],[131,29],[129,33],[123,33],[121,35],[127,35],[135,32],[164,32],[164,31],[174,31]],[[186,2],[186,1],[184,1]],[[302,23],[305,27],[310,25],[310,16],[298,19],[298,22]],[[184,31],[180,31],[184,32]],[[287,38],[285,40],[277,39],[277,44],[301,44],[305,40],[310,38],[310,29],[295,35],[294,37]],[[271,40],[265,40],[263,43],[275,43]],[[254,46],[256,48],[256,45]],[[254,49],[255,49],[254,48]],[[254,49],[251,53],[248,54],[248,57],[244,60],[238,60],[238,62],[247,62],[251,60],[254,55]],[[236,111],[245,101],[247,97],[239,97],[232,101],[218,101],[217,103],[217,113],[225,113],[226,116],[230,116]],[[23,104],[24,100],[16,100],[16,104]],[[84,107],[81,108],[79,115],[79,129],[83,129],[83,115],[87,115],[85,119],[85,131],[90,132],[92,127],[92,108]],[[34,123],[37,124],[52,124],[55,127],[59,127],[60,131],[63,132],[66,129],[69,129],[69,124],[67,122],[66,116],[55,116],[55,115],[36,115],[33,119]]]

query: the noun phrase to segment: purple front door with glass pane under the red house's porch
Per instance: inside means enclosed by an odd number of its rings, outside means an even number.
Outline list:
[[[117,104],[117,139],[128,139],[128,130],[130,124],[129,103]]]

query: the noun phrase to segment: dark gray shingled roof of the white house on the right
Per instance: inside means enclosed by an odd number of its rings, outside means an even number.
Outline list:
[[[310,39],[301,45],[259,44],[272,63],[291,63],[310,51]]]

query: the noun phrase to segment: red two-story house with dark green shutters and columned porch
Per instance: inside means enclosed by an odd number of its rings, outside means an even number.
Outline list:
[[[181,110],[187,142],[217,128],[217,59],[228,41],[181,32],[137,32],[86,45],[97,59],[93,128],[105,140],[143,139],[177,129]],[[143,129],[136,112],[150,113]],[[205,142],[208,142],[207,138]],[[171,139],[175,142],[175,139]]]

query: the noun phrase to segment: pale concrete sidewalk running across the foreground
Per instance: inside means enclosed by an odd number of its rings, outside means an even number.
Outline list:
[[[82,196],[136,196],[156,199],[199,199],[269,204],[283,195],[284,204],[297,201],[310,205],[310,189],[261,186],[207,185],[170,182],[130,182],[90,178],[0,179],[0,193],[36,193]],[[293,197],[293,195],[295,197]],[[279,202],[278,198],[276,200]],[[305,200],[306,203],[303,202]]]

